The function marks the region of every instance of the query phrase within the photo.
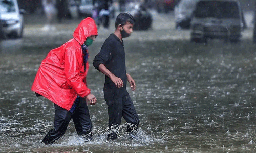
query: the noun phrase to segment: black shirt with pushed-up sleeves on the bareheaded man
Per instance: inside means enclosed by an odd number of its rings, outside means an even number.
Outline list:
[[[111,34],[105,40],[99,54],[95,56],[93,66],[99,70],[100,64],[104,64],[109,71],[123,81],[123,87],[118,89],[111,79],[105,76],[103,89],[105,100],[113,100],[128,95],[129,93],[126,90],[127,76],[123,42],[115,34]]]

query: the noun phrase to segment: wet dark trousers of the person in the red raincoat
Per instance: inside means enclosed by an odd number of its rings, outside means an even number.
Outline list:
[[[75,124],[77,134],[79,136],[88,137],[93,127],[89,110],[86,105],[86,100],[79,97],[76,103],[77,104],[73,113],[54,104],[54,128],[47,133],[42,142],[45,144],[51,144],[63,136],[67,130],[71,118]]]

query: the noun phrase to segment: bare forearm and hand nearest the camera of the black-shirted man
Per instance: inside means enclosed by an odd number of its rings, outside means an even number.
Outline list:
[[[121,88],[123,87],[123,81],[121,78],[116,77],[113,73],[111,73],[111,71],[109,71],[104,64],[99,64],[99,71],[101,71],[103,74],[105,74],[106,76],[108,76],[112,82],[115,83],[117,88]]]

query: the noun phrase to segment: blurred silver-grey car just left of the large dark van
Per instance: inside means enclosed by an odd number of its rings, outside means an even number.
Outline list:
[[[174,8],[176,29],[189,29],[198,0],[181,0]]]

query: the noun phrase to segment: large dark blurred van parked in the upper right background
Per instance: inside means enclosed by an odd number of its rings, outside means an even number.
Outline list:
[[[191,21],[191,41],[224,39],[239,42],[244,29],[238,0],[200,0]]]

